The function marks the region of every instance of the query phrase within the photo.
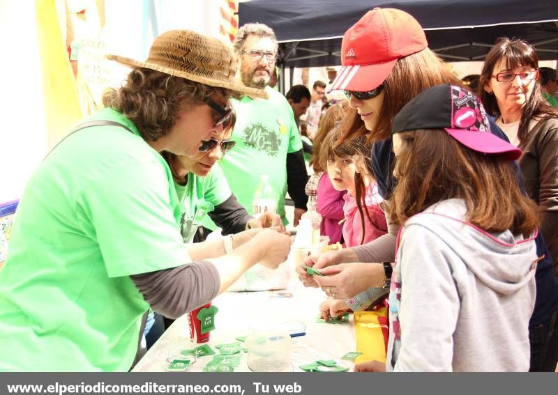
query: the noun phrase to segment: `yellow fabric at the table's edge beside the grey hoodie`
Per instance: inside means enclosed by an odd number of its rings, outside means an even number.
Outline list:
[[[367,361],[386,362],[386,346],[382,325],[378,322],[379,316],[386,316],[385,307],[378,311],[354,313],[356,350],[362,353],[356,358],[356,364]]]

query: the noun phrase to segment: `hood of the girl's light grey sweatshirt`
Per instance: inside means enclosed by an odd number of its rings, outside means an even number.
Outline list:
[[[525,286],[533,277],[531,269],[536,267],[534,235],[523,238],[511,231],[488,233],[468,223],[466,212],[465,201],[448,199],[409,218],[405,227],[428,226],[479,281],[498,293],[511,295]]]

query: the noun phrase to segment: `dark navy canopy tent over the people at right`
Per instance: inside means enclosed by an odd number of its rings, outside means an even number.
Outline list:
[[[529,41],[541,60],[558,58],[556,0],[252,0],[239,3],[239,22],[276,32],[282,67],[339,65],[343,33],[374,7],[413,15],[447,61],[482,61],[502,36]]]

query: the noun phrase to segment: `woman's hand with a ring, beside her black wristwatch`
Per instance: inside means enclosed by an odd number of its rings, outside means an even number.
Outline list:
[[[314,281],[333,299],[350,299],[370,287],[384,285],[381,263],[340,263],[319,272],[324,276],[314,276]]]

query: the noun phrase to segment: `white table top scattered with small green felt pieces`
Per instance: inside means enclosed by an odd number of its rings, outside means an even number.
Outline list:
[[[293,297],[276,297],[277,292],[289,292]],[[349,351],[356,350],[356,339],[352,315],[349,324],[317,323],[319,303],[326,295],[317,288],[304,288],[291,279],[287,290],[243,293],[223,293],[213,300],[218,307],[216,330],[211,332],[209,346],[232,343],[236,336],[284,329],[290,332],[306,332],[305,336],[292,338],[292,371],[301,371],[299,366],[311,364],[317,359],[335,359],[352,371],[354,363],[340,359]],[[179,356],[180,351],[199,346],[190,343],[186,316],[177,319],[160,339],[148,350],[133,371],[165,371],[169,357]],[[235,371],[250,371],[246,353],[242,353],[241,364]],[[199,357],[190,371],[203,371],[212,355]]]

